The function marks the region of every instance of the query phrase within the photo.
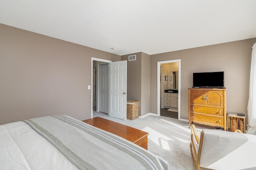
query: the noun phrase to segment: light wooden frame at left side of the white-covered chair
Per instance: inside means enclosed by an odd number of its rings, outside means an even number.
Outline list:
[[[196,127],[192,124],[191,126],[191,140],[190,140],[190,152],[191,158],[194,165],[195,170],[200,169],[200,156],[202,150],[202,142],[203,142],[204,132],[201,131],[200,137],[197,135]]]

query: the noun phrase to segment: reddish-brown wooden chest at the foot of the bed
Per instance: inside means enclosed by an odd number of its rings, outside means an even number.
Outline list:
[[[139,145],[144,149],[148,149],[148,133],[104,119],[102,117],[94,117],[92,119],[83,120],[83,122],[88,123],[92,126],[98,127],[104,131],[108,131],[115,135],[118,135],[132,143]]]

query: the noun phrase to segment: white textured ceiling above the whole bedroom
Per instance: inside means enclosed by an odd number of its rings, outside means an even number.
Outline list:
[[[0,23],[152,55],[256,37],[256,0],[1,0]]]

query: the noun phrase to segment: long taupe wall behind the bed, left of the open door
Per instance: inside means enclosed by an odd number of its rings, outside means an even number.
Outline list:
[[[112,53],[0,24],[0,124],[66,114],[91,117],[91,57]]]

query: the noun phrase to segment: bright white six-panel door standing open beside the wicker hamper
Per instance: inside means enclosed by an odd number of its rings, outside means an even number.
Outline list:
[[[127,61],[109,63],[109,112],[110,117],[126,119]]]

